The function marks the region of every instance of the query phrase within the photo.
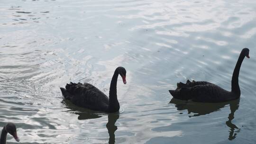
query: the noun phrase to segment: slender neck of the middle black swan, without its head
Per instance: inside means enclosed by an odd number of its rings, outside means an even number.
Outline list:
[[[117,80],[118,80],[118,71],[116,70],[114,72],[114,75],[112,77],[111,83],[110,83],[110,100],[109,100],[109,111],[110,112],[116,112],[119,111],[119,102],[117,99]]]

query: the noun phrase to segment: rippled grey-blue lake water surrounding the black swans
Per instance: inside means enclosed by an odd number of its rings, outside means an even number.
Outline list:
[[[21,144],[255,144],[255,0],[1,0],[0,127]],[[187,79],[230,90],[242,48],[241,98],[172,99]],[[59,87],[90,82],[119,114],[78,108]],[[9,144],[15,140],[8,136]]]

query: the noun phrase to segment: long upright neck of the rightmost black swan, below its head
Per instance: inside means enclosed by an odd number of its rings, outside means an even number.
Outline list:
[[[234,72],[232,75],[232,81],[231,81],[231,83],[232,83],[231,84],[231,92],[234,92],[238,96],[238,98],[241,95],[239,84],[238,84],[238,76],[239,76],[240,67],[241,67],[241,64],[242,64],[244,58],[245,58],[245,54],[241,53],[239,55],[238,62],[234,69]]]

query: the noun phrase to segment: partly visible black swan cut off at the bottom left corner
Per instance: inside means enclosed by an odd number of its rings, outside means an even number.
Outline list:
[[[16,126],[13,123],[8,123],[2,129],[0,144],[6,144],[6,136],[7,133],[11,134],[17,142],[19,142],[19,138],[17,136]]]

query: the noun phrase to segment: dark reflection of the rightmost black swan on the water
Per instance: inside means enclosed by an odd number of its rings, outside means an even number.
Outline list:
[[[201,115],[210,114],[214,111],[219,111],[221,108],[224,108],[226,105],[229,104],[230,106],[230,114],[228,116],[228,121],[226,125],[229,126],[229,140],[233,140],[236,138],[237,133],[240,131],[235,124],[231,121],[235,118],[234,114],[236,110],[239,108],[239,101],[240,99],[232,100],[229,102],[223,103],[199,103],[199,102],[192,102],[192,101],[183,101],[179,99],[171,99],[170,103],[175,104],[177,110],[188,110],[188,114],[194,113],[194,115],[189,117],[197,117]],[[236,133],[235,133],[236,132]]]

